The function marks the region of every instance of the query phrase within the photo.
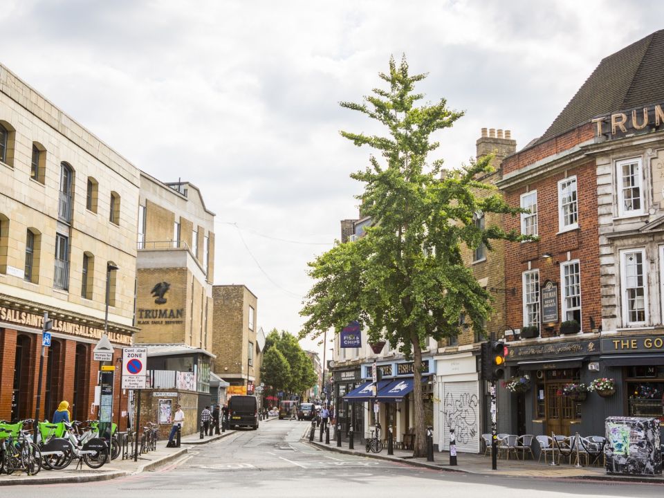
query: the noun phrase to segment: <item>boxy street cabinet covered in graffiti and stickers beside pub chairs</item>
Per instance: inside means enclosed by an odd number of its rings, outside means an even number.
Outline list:
[[[607,474],[662,473],[658,418],[608,417],[605,427]]]

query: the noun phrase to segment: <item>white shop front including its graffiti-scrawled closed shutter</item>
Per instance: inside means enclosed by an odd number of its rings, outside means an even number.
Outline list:
[[[457,451],[479,452],[483,395],[473,351],[436,356],[434,444],[450,449],[454,430]]]

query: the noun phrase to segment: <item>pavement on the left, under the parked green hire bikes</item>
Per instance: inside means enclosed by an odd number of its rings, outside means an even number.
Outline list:
[[[269,422],[274,418],[268,418],[264,421]],[[180,448],[166,448],[166,441],[159,441],[157,449],[154,452],[148,452],[138,457],[138,461],[122,460],[120,457],[105,464],[100,469],[89,468],[83,463],[83,468],[76,468],[77,460],[64,470],[40,470],[35,476],[28,476],[25,472],[14,472],[13,474],[0,474],[0,486],[25,485],[25,484],[53,484],[53,483],[84,483],[91,481],[107,481],[140,472],[149,472],[165,465],[176,465],[176,463],[185,458],[185,454],[190,448],[197,445],[204,445],[218,441],[234,434],[235,431],[227,430],[219,435],[204,437],[200,439],[198,433],[190,434],[181,438]]]

